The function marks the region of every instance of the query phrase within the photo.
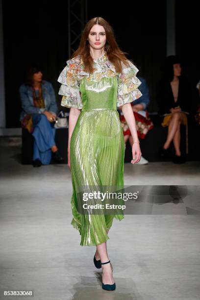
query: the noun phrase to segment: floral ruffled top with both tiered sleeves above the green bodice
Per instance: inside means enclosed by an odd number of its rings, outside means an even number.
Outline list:
[[[122,73],[117,73],[115,66],[104,53],[100,58],[94,59],[94,73],[87,73],[84,71],[81,55],[69,59],[67,66],[58,77],[58,82],[61,83],[58,94],[63,96],[61,105],[82,109],[83,103],[79,88],[84,77],[86,81],[100,82],[102,78],[116,76],[118,80],[117,107],[138,99],[142,96],[138,89],[141,81],[136,77],[139,70],[129,60],[128,64],[128,67],[122,64]]]

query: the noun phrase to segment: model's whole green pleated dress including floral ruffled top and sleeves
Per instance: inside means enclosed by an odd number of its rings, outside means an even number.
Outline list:
[[[130,62],[121,74],[106,53],[94,59],[94,73],[84,71],[80,55],[67,61],[59,75],[61,105],[81,109],[70,143],[73,195],[71,224],[79,230],[81,246],[97,246],[109,237],[113,219],[124,214],[82,214],[78,210],[80,187],[124,185],[125,143],[117,106],[142,96],[138,69]],[[96,200],[90,200],[96,204]]]

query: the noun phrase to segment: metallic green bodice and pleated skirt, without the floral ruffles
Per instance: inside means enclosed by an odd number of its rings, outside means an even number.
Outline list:
[[[106,230],[113,218],[124,219],[123,214],[80,214],[77,210],[77,192],[80,186],[123,186],[125,143],[117,111],[117,77],[103,77],[100,81],[80,83],[82,111],[71,137],[70,158],[73,195],[73,220],[79,230],[81,246],[96,246],[106,242]],[[90,200],[90,204],[96,204]]]

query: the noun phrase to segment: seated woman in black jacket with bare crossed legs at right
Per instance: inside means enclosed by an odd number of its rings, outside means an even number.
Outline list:
[[[173,141],[175,147],[174,163],[183,163],[185,157],[180,151],[180,125],[186,125],[186,152],[187,144],[187,114],[190,111],[191,88],[188,80],[181,75],[180,59],[171,55],[165,63],[165,74],[157,86],[158,114],[164,116],[162,126],[168,126],[167,140],[159,150],[164,160],[169,158],[169,147]]]

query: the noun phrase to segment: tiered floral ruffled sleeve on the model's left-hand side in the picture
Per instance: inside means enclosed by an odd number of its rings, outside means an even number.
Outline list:
[[[77,74],[79,72],[78,59],[70,59],[67,61],[67,66],[60,73],[58,82],[61,83],[58,94],[62,95],[61,105],[65,107],[83,107]]]

